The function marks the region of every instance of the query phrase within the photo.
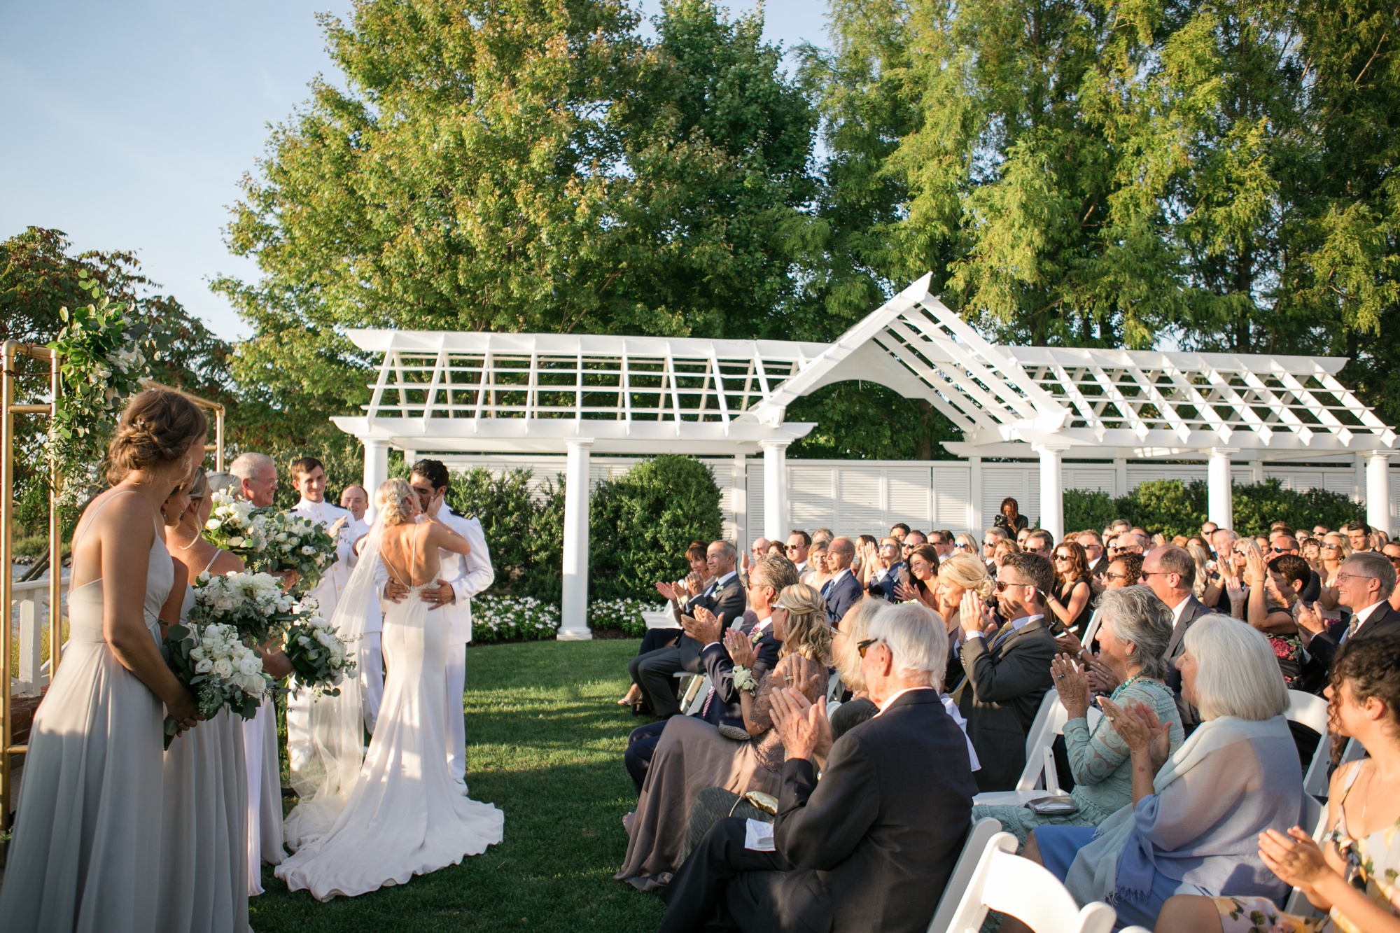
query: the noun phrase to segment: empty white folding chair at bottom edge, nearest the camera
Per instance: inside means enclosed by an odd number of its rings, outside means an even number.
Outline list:
[[[1009,832],[998,832],[987,841],[946,933],[977,933],[987,911],[1009,913],[1036,933],[1109,933],[1113,929],[1117,919],[1113,908],[1099,901],[1081,908],[1049,870],[1015,852],[1016,838]]]

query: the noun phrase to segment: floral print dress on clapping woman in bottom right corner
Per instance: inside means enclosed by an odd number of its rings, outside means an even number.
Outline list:
[[[1337,806],[1337,827],[1324,839],[1337,846],[1347,863],[1347,881],[1364,892],[1373,904],[1394,916],[1400,916],[1400,820],[1376,829],[1369,836],[1357,839],[1347,832],[1347,814],[1343,804],[1351,793],[1351,785],[1361,773],[1361,762],[1347,776],[1347,787]],[[1221,915],[1224,933],[1365,933],[1355,923],[1337,913],[1322,918],[1303,918],[1284,913],[1268,898],[1211,898]]]

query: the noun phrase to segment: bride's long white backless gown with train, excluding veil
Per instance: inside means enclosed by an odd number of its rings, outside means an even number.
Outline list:
[[[377,544],[378,535],[371,539]],[[413,544],[416,555],[416,534]],[[382,555],[377,551],[374,559]],[[367,563],[361,560],[361,567]],[[388,560],[384,566],[399,576]],[[357,567],[365,572],[372,576],[372,567]],[[305,888],[321,901],[354,897],[456,864],[501,841],[504,814],[465,797],[448,772],[442,707],[448,619],[428,609],[419,598],[421,590],[410,586],[403,601],[386,602],[389,674],[370,751],[330,829],[305,839],[277,866],[277,877],[293,891]]]

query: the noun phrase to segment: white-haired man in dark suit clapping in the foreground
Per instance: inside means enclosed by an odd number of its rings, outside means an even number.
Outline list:
[[[720,820],[676,873],[661,930],[923,933],[967,835],[967,742],[938,699],[946,640],[890,607],[861,640],[881,713],[833,742],[825,702],[774,696],[787,752],[773,852]],[[820,780],[818,769],[820,768]]]

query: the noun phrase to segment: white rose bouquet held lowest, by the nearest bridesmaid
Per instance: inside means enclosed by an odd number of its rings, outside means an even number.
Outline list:
[[[206,719],[220,709],[252,719],[273,679],[262,670],[262,658],[246,647],[230,625],[172,625],[161,647],[165,663],[179,682],[195,692],[195,705]],[[179,721],[165,717],[165,748],[171,747]]]

